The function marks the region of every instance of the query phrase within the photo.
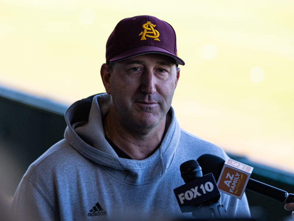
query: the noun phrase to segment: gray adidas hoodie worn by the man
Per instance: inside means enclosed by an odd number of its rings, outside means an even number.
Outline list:
[[[106,141],[102,119],[107,94],[93,95],[66,110],[65,139],[40,156],[24,174],[11,212],[18,220],[173,220],[181,213],[173,189],[184,184],[180,165],[205,153],[228,156],[218,146],[171,124],[147,159],[120,158]],[[250,217],[248,202],[221,193],[230,217]]]

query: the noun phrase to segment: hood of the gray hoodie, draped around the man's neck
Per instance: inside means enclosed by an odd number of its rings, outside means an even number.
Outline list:
[[[124,159],[106,141],[103,118],[108,114],[111,96],[93,95],[72,104],[65,112],[66,141],[84,157],[103,166],[111,176],[124,183],[142,185],[159,179],[173,162],[181,129],[173,108],[171,123],[159,148],[143,160]]]

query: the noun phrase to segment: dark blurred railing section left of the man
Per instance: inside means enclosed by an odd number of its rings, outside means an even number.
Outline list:
[[[0,88],[0,191],[13,195],[28,166],[63,138],[66,108]]]

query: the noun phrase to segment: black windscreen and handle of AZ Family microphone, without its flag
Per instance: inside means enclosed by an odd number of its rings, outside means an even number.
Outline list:
[[[202,167],[204,174],[212,173],[215,179],[219,179],[223,165],[225,163],[224,159],[213,154],[203,154],[198,157],[197,161]],[[281,202],[294,202],[294,194],[289,194],[282,189],[278,189],[251,178],[247,183],[246,189]]]

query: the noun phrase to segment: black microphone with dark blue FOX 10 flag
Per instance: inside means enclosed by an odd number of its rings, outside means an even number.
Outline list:
[[[185,184],[174,189],[181,212],[192,212],[197,218],[227,217],[220,205],[220,192],[212,173],[203,176],[196,160],[189,160],[180,166]]]

